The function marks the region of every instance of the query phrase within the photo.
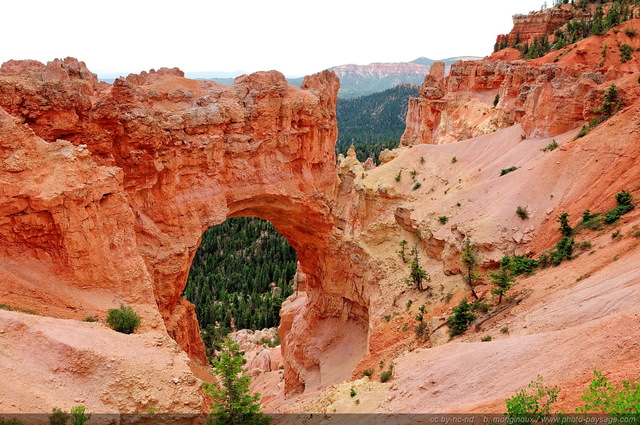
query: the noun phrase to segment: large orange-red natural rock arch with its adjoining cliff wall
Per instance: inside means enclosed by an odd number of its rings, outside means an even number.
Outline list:
[[[199,239],[228,217],[270,220],[307,276],[283,312],[286,390],[348,378],[367,349],[370,289],[356,264],[366,253],[343,230],[352,206],[338,201],[333,73],[301,89],[275,71],[223,86],[177,69],[109,86],[67,58],[10,62],[0,77],[3,128],[17,135],[3,151],[21,159],[3,171],[26,200],[0,228],[3,255],[137,304],[204,362],[180,297]]]

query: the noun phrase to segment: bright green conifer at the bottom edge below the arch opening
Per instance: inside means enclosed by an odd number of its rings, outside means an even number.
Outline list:
[[[213,398],[207,425],[266,425],[271,418],[260,410],[260,394],[249,393],[249,376],[242,376],[243,357],[240,345],[231,338],[225,340],[220,360],[214,360],[218,384],[203,383],[205,392]]]

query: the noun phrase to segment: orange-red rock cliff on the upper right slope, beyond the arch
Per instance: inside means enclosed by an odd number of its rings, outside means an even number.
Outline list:
[[[639,22],[628,21],[536,60],[494,55],[456,62],[443,81],[428,76],[420,97],[409,101],[401,145],[449,143],[514,123],[522,124],[527,137],[553,136],[581,125],[594,116],[611,80],[640,70],[637,58],[621,63],[617,52],[602,56],[605,45],[640,46],[624,34]]]

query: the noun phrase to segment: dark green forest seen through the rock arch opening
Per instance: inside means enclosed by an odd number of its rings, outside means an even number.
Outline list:
[[[195,306],[208,357],[234,330],[279,326],[296,265],[295,249],[268,220],[232,217],[204,232],[182,296]]]

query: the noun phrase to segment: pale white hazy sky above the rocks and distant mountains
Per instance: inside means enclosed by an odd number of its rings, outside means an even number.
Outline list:
[[[485,56],[544,0],[20,0],[2,4],[0,62],[73,56],[98,74],[277,69]],[[551,3],[551,0],[549,0]]]

